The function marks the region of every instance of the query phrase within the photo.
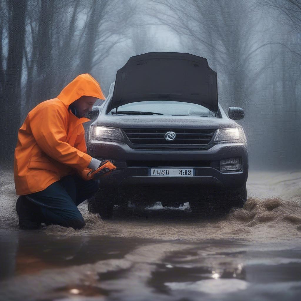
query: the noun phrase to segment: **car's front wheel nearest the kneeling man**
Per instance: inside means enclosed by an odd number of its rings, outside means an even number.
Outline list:
[[[119,203],[117,189],[100,188],[93,197],[88,199],[88,211],[98,213],[103,220],[112,219],[116,203]]]

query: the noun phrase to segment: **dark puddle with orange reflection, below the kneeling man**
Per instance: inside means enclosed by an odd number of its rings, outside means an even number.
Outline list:
[[[38,232],[1,231],[0,279],[120,259],[147,239],[109,236],[55,237]]]

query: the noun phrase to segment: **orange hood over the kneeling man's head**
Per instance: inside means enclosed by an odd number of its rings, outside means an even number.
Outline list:
[[[73,79],[57,96],[67,108],[73,101],[82,96],[93,96],[105,100],[99,83],[88,73],[80,74]]]

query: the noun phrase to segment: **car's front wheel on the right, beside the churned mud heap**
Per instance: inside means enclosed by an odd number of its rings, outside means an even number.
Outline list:
[[[246,184],[241,188],[205,188],[189,202],[195,217],[218,217],[229,213],[232,207],[242,208],[247,200]]]

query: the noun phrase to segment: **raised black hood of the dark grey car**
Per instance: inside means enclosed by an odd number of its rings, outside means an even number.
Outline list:
[[[191,102],[217,113],[216,72],[206,58],[189,53],[132,56],[117,71],[108,112],[116,106],[150,100]]]

